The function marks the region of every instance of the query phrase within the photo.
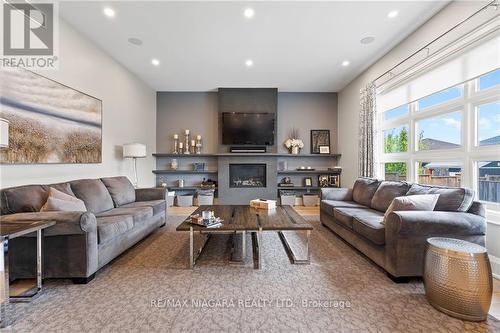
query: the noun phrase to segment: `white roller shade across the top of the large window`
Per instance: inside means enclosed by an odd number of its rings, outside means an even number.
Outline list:
[[[498,17],[377,89],[383,112],[500,68]]]

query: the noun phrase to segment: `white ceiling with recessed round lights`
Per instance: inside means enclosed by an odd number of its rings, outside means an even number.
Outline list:
[[[339,91],[446,1],[62,2],[77,30],[157,91]],[[116,16],[103,15],[105,6]],[[245,8],[255,10],[252,19]],[[398,10],[394,19],[388,12]],[[375,42],[363,45],[363,37]],[[141,46],[130,44],[140,38]],[[157,58],[161,64],[151,65]],[[245,60],[252,59],[247,68]],[[349,60],[350,66],[341,66]]]

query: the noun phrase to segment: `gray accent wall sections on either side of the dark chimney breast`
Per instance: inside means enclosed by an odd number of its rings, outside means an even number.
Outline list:
[[[156,106],[157,152],[170,153],[172,135],[186,128],[203,136],[204,153],[219,151],[217,92],[158,92]],[[287,152],[283,143],[292,127],[300,130],[302,153],[310,152],[311,129],[329,129],[331,152],[337,152],[337,93],[278,92],[278,152]]]

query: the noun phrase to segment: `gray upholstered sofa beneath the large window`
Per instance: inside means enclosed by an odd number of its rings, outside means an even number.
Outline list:
[[[384,213],[398,196],[439,194],[434,211]],[[425,186],[371,178],[352,189],[321,193],[321,223],[382,267],[396,282],[422,276],[426,240],[460,238],[484,246],[485,208],[464,188]]]

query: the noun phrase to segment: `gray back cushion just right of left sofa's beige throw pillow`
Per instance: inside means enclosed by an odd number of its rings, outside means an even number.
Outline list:
[[[100,179],[80,179],[71,182],[75,196],[82,199],[91,213],[98,214],[114,208],[113,199]]]

